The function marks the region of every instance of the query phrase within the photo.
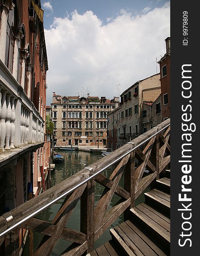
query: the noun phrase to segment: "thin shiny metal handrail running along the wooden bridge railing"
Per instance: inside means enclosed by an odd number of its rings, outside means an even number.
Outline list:
[[[101,172],[103,172],[105,169],[109,168],[110,166],[114,165],[115,163],[117,163],[118,161],[120,161],[121,159],[123,159],[123,157],[126,157],[128,154],[130,154],[132,151],[134,151],[135,149],[139,148],[141,145],[143,145],[144,143],[148,142],[149,140],[151,140],[151,138],[153,138],[154,136],[156,136],[157,134],[159,134],[161,131],[163,131],[164,129],[166,129],[167,127],[170,126],[170,123],[168,125],[166,125],[165,127],[161,128],[159,131],[157,131],[155,134],[152,134],[151,136],[149,136],[149,138],[147,138],[146,140],[144,140],[143,142],[139,143],[138,145],[134,146],[132,149],[130,149],[129,151],[127,151],[126,153],[124,153],[123,155],[121,155],[120,157],[118,157],[117,159],[115,159],[114,161],[112,161],[111,163],[109,163],[108,165],[104,166],[102,169],[100,169],[99,171],[95,172],[94,174],[92,174],[91,176],[89,176],[88,178],[86,178],[85,180],[81,181],[80,183],[78,183],[76,186],[72,187],[71,189],[69,189],[68,191],[66,191],[65,193],[63,193],[62,195],[60,195],[59,197],[57,197],[56,199],[54,199],[53,201],[49,202],[48,204],[46,204],[45,206],[41,207],[40,209],[37,209],[37,211],[31,213],[30,215],[26,216],[25,218],[23,218],[21,221],[17,222],[16,224],[12,225],[11,227],[9,227],[8,229],[6,229],[5,231],[3,231],[2,233],[0,233],[0,238],[2,236],[5,236],[6,234],[8,234],[10,231],[14,230],[16,227],[20,226],[20,224],[28,221],[30,218],[33,218],[35,215],[37,215],[38,213],[42,212],[43,210],[45,210],[46,208],[50,207],[52,204],[56,203],[57,201],[59,201],[61,198],[63,198],[66,195],[69,195],[71,192],[73,192],[74,190],[78,189],[80,186],[83,186],[86,182],[88,182],[89,180],[93,179],[94,177],[96,177],[98,174],[100,174]],[[156,127],[154,127],[156,128]],[[157,128],[158,129],[158,128]],[[131,142],[129,142],[131,143]],[[134,143],[131,143],[134,144]],[[84,169],[87,169],[87,167],[85,167]],[[89,170],[92,170],[92,168],[88,168]],[[8,216],[9,218],[10,216]],[[12,216],[11,216],[12,218]],[[6,219],[7,221],[7,219]]]

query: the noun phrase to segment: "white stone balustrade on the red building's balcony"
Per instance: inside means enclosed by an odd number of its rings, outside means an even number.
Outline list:
[[[2,61],[0,81],[0,151],[43,142],[43,118]]]

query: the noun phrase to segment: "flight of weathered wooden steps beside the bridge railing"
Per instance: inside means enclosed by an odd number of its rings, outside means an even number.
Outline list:
[[[87,256],[170,255],[170,170],[166,174],[130,209],[129,220],[110,230],[112,239]]]

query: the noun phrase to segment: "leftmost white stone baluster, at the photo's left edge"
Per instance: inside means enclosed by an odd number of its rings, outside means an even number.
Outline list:
[[[4,143],[6,139],[6,115],[7,115],[7,106],[6,106],[6,93],[7,91],[2,91],[2,108],[1,108],[1,137],[0,137],[0,151],[4,151]]]

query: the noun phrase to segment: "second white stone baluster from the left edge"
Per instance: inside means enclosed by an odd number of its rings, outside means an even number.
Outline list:
[[[11,116],[12,116],[10,98],[11,98],[11,94],[8,93],[6,95],[7,114],[6,114],[6,146],[5,146],[5,150],[10,149],[10,136],[11,136],[11,123],[10,123],[10,121],[11,121]]]

